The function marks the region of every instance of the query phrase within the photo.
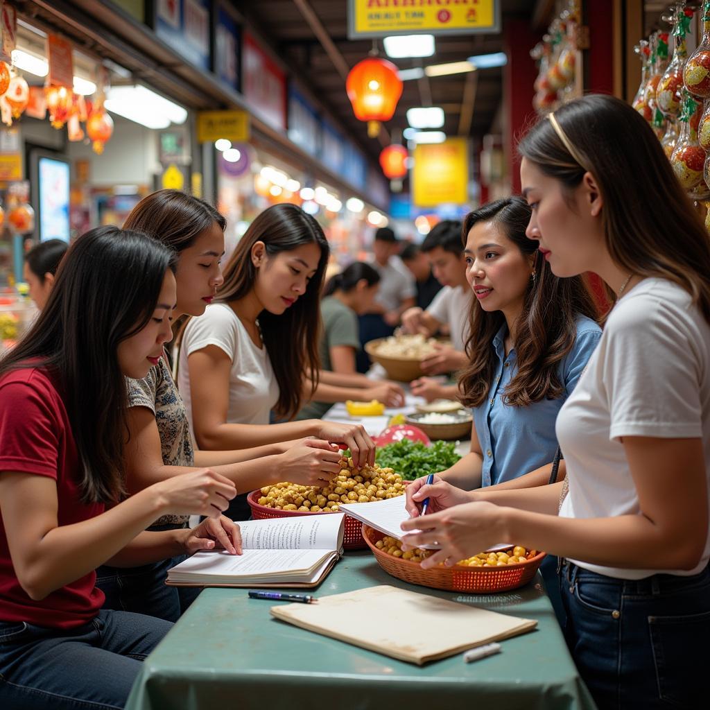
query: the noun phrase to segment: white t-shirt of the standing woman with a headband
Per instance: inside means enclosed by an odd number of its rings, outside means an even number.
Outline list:
[[[701,438],[709,474],[710,326],[682,288],[647,278],[618,301],[556,429],[569,479],[559,510],[565,518],[640,513],[620,437]],[[683,485],[681,469],[668,475]],[[657,572],[697,574],[709,557],[710,536],[689,571],[572,562],[608,577],[643,579]],[[653,550],[648,560],[662,565]]]

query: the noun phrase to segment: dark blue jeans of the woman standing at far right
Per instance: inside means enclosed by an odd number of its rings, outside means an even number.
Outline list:
[[[564,633],[600,710],[705,707],[710,568],[635,581],[564,561]]]

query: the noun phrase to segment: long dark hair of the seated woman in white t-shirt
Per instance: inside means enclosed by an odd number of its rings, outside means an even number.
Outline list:
[[[257,241],[263,241],[268,256],[303,244],[320,247],[317,271],[295,304],[282,315],[273,315],[267,310],[259,314],[261,335],[279,388],[275,411],[289,418],[300,409],[302,387],[309,371],[312,373],[311,394],[317,386],[320,292],[330,249],[320,224],[310,214],[295,204],[274,204],[254,219],[237,244],[224,267],[224,283],[217,292],[219,300],[240,300],[253,288],[257,270],[251,261],[251,248]]]

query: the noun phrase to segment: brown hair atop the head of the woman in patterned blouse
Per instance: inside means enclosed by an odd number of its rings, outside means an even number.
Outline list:
[[[209,202],[180,190],[158,190],[131,209],[124,229],[142,231],[179,253],[214,222],[224,231],[226,219]]]

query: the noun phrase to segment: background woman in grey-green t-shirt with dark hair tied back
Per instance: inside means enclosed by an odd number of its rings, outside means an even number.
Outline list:
[[[379,283],[377,270],[364,261],[349,264],[326,283],[320,302],[319,382],[339,388],[341,400],[378,400],[388,406],[401,406],[404,391],[399,385],[373,381],[356,367],[355,356],[360,349],[358,316],[370,310]],[[309,402],[296,418],[320,419],[331,405]]]

